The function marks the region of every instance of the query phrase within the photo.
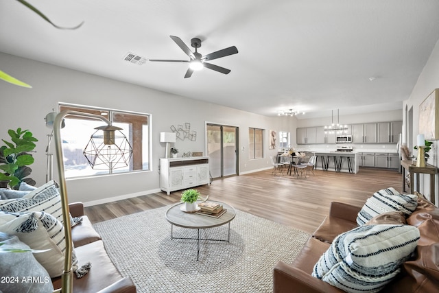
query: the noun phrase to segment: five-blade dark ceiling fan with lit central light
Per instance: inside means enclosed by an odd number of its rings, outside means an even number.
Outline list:
[[[229,55],[237,54],[238,49],[235,46],[228,47],[226,49],[222,49],[219,51],[215,51],[211,54],[207,54],[202,56],[200,53],[198,53],[197,49],[201,47],[201,40],[199,38],[192,38],[191,39],[191,46],[195,48],[195,52],[191,51],[189,47],[181,40],[181,38],[178,38],[178,36],[170,36],[174,42],[182,49],[187,56],[189,56],[189,60],[161,60],[161,59],[149,59],[152,62],[188,62],[189,63],[189,69],[187,69],[185,78],[190,78],[193,71],[200,70],[203,67],[218,71],[220,73],[228,74],[230,73],[230,69],[226,69],[224,67],[219,67],[217,65],[213,65],[211,63],[208,63],[206,61],[214,60],[217,58],[226,57]]]

